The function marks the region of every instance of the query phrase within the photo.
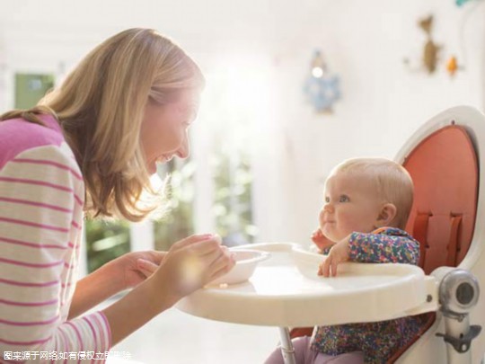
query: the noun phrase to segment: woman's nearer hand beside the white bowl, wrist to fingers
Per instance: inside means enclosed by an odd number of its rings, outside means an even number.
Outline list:
[[[234,267],[234,256],[220,244],[217,235],[191,235],[172,245],[163,262],[154,270],[147,265],[159,287],[169,292],[176,302]]]

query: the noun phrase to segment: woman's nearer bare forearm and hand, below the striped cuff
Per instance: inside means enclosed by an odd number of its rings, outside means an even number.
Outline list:
[[[111,344],[233,266],[233,257],[213,235],[192,235],[173,244],[148,279],[102,311],[110,324]]]

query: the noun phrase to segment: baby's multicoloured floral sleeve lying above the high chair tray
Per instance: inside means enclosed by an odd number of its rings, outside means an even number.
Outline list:
[[[409,235],[352,233],[348,248],[353,262],[419,262],[419,243]]]

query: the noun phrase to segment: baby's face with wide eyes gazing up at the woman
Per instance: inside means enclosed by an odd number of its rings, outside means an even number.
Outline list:
[[[373,231],[383,205],[373,183],[355,173],[332,175],[325,184],[324,201],[320,229],[334,242],[356,231]]]

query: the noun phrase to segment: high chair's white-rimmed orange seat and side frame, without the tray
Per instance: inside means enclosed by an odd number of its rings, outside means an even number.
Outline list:
[[[483,360],[485,334],[479,333],[485,324],[485,298],[479,286],[485,280],[484,152],[485,116],[460,106],[429,120],[396,156],[415,184],[406,230],[420,243],[419,266],[440,284],[440,307],[436,315],[428,315],[423,333],[392,362]],[[441,334],[446,331],[471,342],[444,343]]]

